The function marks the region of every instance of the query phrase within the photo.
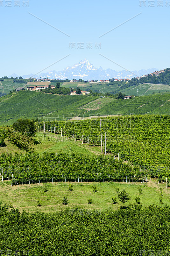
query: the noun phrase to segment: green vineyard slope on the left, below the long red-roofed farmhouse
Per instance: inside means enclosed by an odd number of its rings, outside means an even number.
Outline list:
[[[95,100],[86,95],[53,95],[41,92],[20,91],[0,98],[0,124],[12,124],[18,118],[34,118],[48,115],[63,120],[63,115],[81,114],[77,108]],[[49,115],[50,114],[50,115]],[[45,117],[46,118],[46,117]]]

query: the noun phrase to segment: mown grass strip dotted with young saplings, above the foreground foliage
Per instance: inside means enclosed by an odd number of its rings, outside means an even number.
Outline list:
[[[128,206],[129,203],[135,203],[136,196],[140,197],[140,202],[143,206],[151,204],[159,204],[160,188],[163,189],[163,205],[170,205],[170,190],[166,189],[165,184],[156,183],[156,180],[148,180],[146,183],[123,183],[123,182],[60,182],[55,183],[37,183],[27,185],[16,185],[11,188],[10,181],[0,182],[0,199],[3,203],[18,207],[21,211],[24,209],[28,212],[44,211],[53,212],[68,208],[73,208],[78,205],[89,210],[116,210],[122,206],[118,200],[118,194],[115,192],[116,188],[126,189],[129,193],[130,200],[124,204]],[[73,191],[68,191],[68,185],[73,184]],[[47,186],[48,191],[44,191],[44,186]],[[98,192],[93,192],[93,186],[96,185]],[[138,186],[141,185],[142,195],[138,194]],[[69,204],[64,206],[61,202],[63,196],[67,196]],[[118,204],[112,204],[111,197],[116,197]],[[92,198],[93,204],[88,204],[88,199]],[[41,200],[42,206],[37,206],[37,200]]]

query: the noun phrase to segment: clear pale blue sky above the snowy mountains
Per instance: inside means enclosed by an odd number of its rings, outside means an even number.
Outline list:
[[[10,2],[12,7],[5,6]],[[20,7],[14,7],[17,2]],[[97,68],[116,71],[170,67],[170,1],[29,0],[25,6],[23,0],[2,3],[0,77],[36,74],[57,61],[44,72],[62,70],[85,58]],[[148,6],[151,4],[155,7]],[[79,43],[84,49],[77,49]],[[87,43],[91,43],[90,49],[86,49]]]

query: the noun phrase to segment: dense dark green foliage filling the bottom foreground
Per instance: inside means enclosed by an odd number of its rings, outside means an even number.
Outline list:
[[[46,193],[43,188],[42,193]],[[1,253],[4,256],[169,255],[169,216],[168,205],[144,208],[131,204],[125,210],[102,212],[75,206],[54,213],[28,213],[1,202]]]

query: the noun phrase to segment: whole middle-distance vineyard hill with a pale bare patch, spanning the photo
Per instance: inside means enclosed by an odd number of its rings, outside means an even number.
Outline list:
[[[93,102],[90,103],[90,102]],[[20,91],[0,98],[0,125],[18,118],[66,120],[76,116],[170,114],[170,93],[152,93],[131,100],[53,95]]]

